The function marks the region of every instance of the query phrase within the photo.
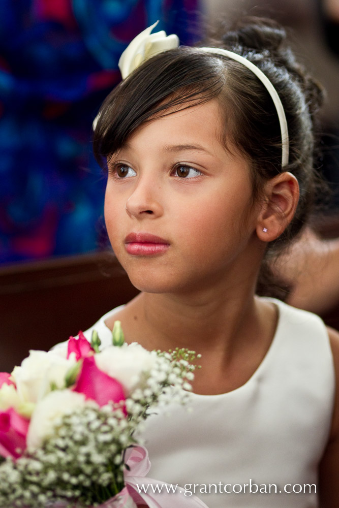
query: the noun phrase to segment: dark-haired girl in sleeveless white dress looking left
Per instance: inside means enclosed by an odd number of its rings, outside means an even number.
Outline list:
[[[109,342],[120,320],[127,342],[202,355],[192,411],[147,422],[149,476],[210,508],[337,508],[338,334],[255,294],[274,296],[268,263],[311,207],[320,89],[271,21],[212,48],[151,28],[94,136],[109,238],[140,290],[94,328]],[[140,45],[158,54],[142,62]]]

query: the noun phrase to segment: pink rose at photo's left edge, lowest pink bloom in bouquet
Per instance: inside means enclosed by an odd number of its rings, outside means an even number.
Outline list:
[[[13,459],[22,455],[26,449],[28,425],[29,421],[12,407],[0,412],[0,455]]]

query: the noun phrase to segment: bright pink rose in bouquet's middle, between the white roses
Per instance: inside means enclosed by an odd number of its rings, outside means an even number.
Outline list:
[[[109,401],[126,400],[122,385],[98,369],[93,356],[84,358],[80,375],[73,390],[83,393],[86,399],[95,400],[100,406]]]

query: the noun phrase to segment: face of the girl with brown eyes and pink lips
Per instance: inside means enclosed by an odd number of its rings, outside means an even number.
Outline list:
[[[108,162],[108,235],[141,291],[182,294],[253,270],[258,207],[220,117],[213,100],[152,120]]]

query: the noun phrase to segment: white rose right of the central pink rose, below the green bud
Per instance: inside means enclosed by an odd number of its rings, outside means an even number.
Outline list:
[[[121,347],[108,346],[94,358],[100,370],[124,386],[126,395],[140,384],[142,374],[150,372],[158,361],[155,352],[145,350],[136,342]]]

